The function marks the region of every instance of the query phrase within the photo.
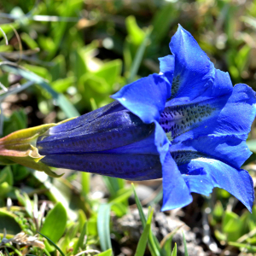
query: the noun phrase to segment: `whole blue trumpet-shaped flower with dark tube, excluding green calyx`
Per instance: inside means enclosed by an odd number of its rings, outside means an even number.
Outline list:
[[[255,93],[231,84],[179,26],[160,74],[126,85],[113,102],[49,129],[38,139],[48,166],[130,180],[163,178],[163,207],[188,205],[214,187],[252,209],[253,181],[241,165],[255,117]]]

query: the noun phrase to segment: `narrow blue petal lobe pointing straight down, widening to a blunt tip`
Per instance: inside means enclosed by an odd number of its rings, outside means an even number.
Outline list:
[[[163,165],[163,206],[162,211],[189,205],[193,200],[176,163],[170,153],[166,154]]]

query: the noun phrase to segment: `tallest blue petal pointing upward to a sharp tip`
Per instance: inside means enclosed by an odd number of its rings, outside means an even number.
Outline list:
[[[207,54],[201,50],[192,35],[178,26],[170,43],[175,55],[175,71],[172,81],[172,98],[189,96],[193,100],[212,86],[214,67]]]

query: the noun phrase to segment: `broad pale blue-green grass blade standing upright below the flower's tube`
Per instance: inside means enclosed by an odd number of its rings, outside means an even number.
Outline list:
[[[102,204],[98,210],[97,230],[100,238],[102,251],[112,249],[109,229],[110,210],[110,204]]]

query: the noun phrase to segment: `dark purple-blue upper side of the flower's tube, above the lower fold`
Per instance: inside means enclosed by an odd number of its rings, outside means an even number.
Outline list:
[[[74,120],[67,123],[72,126]],[[146,125],[127,110],[103,115],[84,122],[73,130],[38,138],[39,154],[85,153],[119,148],[143,140],[154,132],[154,124]]]

